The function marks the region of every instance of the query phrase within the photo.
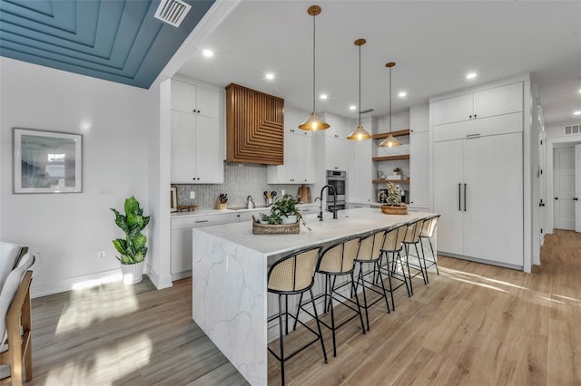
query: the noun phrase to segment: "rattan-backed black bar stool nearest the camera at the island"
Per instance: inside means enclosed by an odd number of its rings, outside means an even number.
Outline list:
[[[314,284],[314,266],[319,259],[321,246],[315,246],[310,248],[301,249],[300,251],[294,252],[289,256],[283,257],[281,260],[277,261],[269,269],[268,274],[268,292],[272,294],[279,295],[279,313],[271,316],[268,322],[275,319],[279,320],[279,333],[280,343],[281,343],[281,353],[280,355],[271,350],[269,347],[269,352],[271,352],[274,357],[281,362],[281,379],[282,385],[284,385],[284,362],[291,359],[294,355],[301,352],[302,350],[309,347],[312,343],[320,341],[320,347],[323,350],[323,357],[325,358],[325,363],[327,363],[327,352],[325,352],[325,343],[323,342],[323,335],[320,332],[319,317],[317,316],[317,308],[315,307],[314,297],[312,295],[312,285]],[[284,334],[282,332],[282,321],[283,316],[285,319],[286,333],[289,333],[289,316],[294,318],[295,316],[289,313],[289,295],[290,294],[303,294],[309,291],[310,293],[310,303],[312,304],[314,311],[314,318],[317,321],[317,331],[310,328],[307,324],[302,323],[311,333],[316,336],[316,339],[304,344],[299,349],[291,352],[291,354],[284,355]],[[282,312],[282,296],[285,300],[285,309]],[[299,306],[301,306],[299,304]]]

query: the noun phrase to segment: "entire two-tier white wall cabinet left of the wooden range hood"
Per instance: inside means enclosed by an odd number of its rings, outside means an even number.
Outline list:
[[[222,94],[172,80],[172,183],[222,184]]]

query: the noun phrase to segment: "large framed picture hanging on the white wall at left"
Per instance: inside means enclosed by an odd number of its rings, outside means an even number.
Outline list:
[[[13,128],[13,193],[82,193],[83,135]]]

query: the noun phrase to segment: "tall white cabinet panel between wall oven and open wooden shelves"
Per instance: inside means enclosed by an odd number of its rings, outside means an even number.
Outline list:
[[[373,165],[371,140],[348,141],[350,163],[347,168],[347,199],[350,202],[371,202],[373,199]]]

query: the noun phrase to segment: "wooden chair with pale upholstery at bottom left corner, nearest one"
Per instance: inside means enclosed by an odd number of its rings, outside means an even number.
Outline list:
[[[5,332],[2,337],[2,349],[0,352],[0,364],[10,367],[10,375],[0,380],[0,383],[12,382],[14,386],[23,383],[23,362],[25,367],[25,380],[33,378],[32,356],[32,319],[30,304],[30,285],[33,271],[29,268],[34,263],[34,256],[22,257],[22,264],[17,266],[8,275],[0,294],[0,304],[10,302],[5,313]],[[23,276],[24,274],[24,276]],[[16,289],[14,291],[14,288]],[[3,311],[5,307],[3,307]],[[0,315],[4,317],[4,315]]]

